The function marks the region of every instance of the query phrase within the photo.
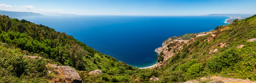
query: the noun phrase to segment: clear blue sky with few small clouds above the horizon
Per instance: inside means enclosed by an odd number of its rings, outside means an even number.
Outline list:
[[[0,0],[0,10],[76,15],[256,14],[256,0]]]

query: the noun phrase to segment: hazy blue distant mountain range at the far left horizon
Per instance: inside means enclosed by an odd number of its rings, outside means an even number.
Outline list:
[[[11,18],[15,18],[15,17],[24,17],[24,16],[43,16],[40,13],[33,13],[33,12],[18,12],[18,11],[4,11],[4,10],[0,10],[0,14],[1,15],[6,15],[9,16]]]

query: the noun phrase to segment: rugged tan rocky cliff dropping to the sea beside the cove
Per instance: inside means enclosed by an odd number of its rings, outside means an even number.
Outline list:
[[[211,34],[211,35],[209,37],[207,37],[207,39],[205,39],[205,41],[207,40],[209,42],[210,40],[212,40],[215,37],[217,32],[210,30],[208,32],[185,34],[183,36],[174,36],[174,37],[168,38],[167,40],[165,40],[162,43],[162,47],[155,49],[155,52],[157,52],[158,54],[160,54],[161,52],[163,53],[163,55],[162,55],[163,61],[157,62],[155,67],[163,66],[164,64],[161,64],[161,63],[167,61],[172,56],[174,56],[175,53],[182,50],[183,45],[193,44],[195,41],[194,38],[198,38],[200,36],[205,36],[208,34]]]

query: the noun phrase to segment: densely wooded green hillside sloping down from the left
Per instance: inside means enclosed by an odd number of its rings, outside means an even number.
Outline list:
[[[83,82],[128,82],[140,71],[47,26],[2,15],[0,27],[1,82],[51,83],[53,79],[54,82],[63,82],[65,78],[58,72],[47,72],[51,69],[47,64],[71,66]],[[103,74],[89,75],[93,70],[101,70]]]

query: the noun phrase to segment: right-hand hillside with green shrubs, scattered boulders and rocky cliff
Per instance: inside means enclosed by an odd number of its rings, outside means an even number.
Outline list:
[[[160,81],[185,82],[214,75],[255,81],[255,24],[256,15],[190,40],[167,39],[156,50]]]

